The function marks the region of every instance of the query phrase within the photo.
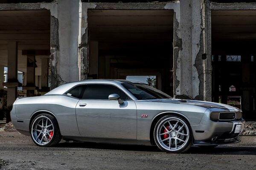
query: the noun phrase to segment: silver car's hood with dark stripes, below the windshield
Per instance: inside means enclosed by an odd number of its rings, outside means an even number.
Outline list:
[[[221,109],[222,111],[240,111],[238,108],[235,108],[230,105],[225,105],[215,102],[204,102],[198,100],[184,100],[184,99],[151,99],[150,102],[161,102],[161,103],[177,103],[180,105],[195,105],[203,108],[212,108],[212,109]]]

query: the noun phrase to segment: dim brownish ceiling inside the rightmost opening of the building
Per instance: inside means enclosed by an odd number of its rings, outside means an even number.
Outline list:
[[[256,11],[211,11],[212,40],[255,40]]]

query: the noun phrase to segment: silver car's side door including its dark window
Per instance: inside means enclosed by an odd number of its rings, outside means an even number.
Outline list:
[[[119,104],[116,100],[109,100],[110,94],[118,94],[124,103]],[[76,106],[76,118],[81,136],[137,138],[135,102],[115,85],[84,85],[83,95]]]

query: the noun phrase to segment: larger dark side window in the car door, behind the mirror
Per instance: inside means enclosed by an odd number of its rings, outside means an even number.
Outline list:
[[[103,99],[108,100],[110,94],[118,94],[120,99],[130,99],[122,90],[114,85],[99,85],[89,84],[86,85],[82,99]]]

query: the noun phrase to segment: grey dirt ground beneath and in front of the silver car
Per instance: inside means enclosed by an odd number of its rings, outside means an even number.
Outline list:
[[[0,170],[255,170],[256,136],[213,149],[168,154],[156,146],[61,141],[38,147],[30,136],[0,131]]]

